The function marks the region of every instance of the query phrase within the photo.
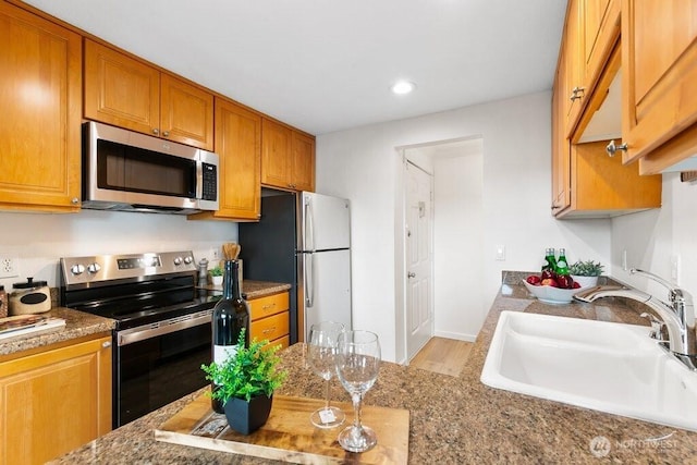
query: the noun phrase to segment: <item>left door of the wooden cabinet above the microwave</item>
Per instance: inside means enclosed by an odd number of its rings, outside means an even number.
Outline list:
[[[85,118],[158,135],[160,72],[85,39]]]

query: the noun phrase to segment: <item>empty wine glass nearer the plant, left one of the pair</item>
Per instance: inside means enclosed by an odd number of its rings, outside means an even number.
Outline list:
[[[313,412],[309,416],[313,425],[319,428],[335,428],[343,424],[346,418],[341,408],[329,405],[329,381],[337,370],[334,360],[337,339],[343,330],[344,326],[334,321],[322,321],[313,325],[309,330],[307,360],[313,370],[326,381],[325,406]]]

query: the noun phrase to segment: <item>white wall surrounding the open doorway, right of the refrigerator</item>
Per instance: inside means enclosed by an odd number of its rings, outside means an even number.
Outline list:
[[[545,91],[317,137],[317,191],[352,201],[354,326],[380,335],[383,358],[405,358],[398,338],[404,333],[398,147],[482,137],[485,271],[478,297],[485,305],[496,296],[502,270],[538,269],[546,247],[566,247],[570,260],[609,262],[610,220],[557,221],[550,215],[550,102]],[[498,245],[506,247],[505,261],[494,260]],[[470,302],[462,293],[451,298]]]

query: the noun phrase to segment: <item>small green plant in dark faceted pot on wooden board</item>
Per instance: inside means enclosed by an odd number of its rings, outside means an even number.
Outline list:
[[[279,371],[281,345],[269,345],[256,338],[244,346],[245,330],[240,331],[237,351],[221,365],[201,365],[206,379],[218,384],[210,393],[223,403],[230,428],[242,435],[261,428],[271,413],[273,391],[285,380],[288,371]]]

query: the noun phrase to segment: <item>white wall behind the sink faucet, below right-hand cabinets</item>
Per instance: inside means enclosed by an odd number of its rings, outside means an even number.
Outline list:
[[[612,276],[667,299],[664,287],[622,269],[639,268],[697,294],[697,184],[682,183],[678,173],[663,174],[663,206],[612,220]],[[678,259],[677,274],[672,261]]]

